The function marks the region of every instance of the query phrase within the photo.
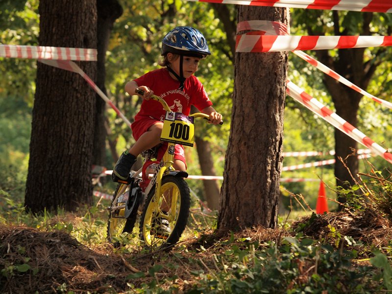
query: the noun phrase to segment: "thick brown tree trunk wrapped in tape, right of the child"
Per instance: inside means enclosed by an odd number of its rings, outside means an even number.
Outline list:
[[[249,20],[288,24],[289,10],[239,6]],[[277,224],[287,64],[287,52],[236,53],[219,229]]]

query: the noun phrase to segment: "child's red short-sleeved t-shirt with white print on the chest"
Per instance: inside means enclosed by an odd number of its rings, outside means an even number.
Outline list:
[[[135,79],[138,86],[147,86],[154,95],[163,98],[174,112],[189,115],[191,105],[202,110],[212,105],[203,85],[196,76],[191,75],[184,82],[184,90],[179,90],[180,82],[173,79],[166,68],[151,71]],[[143,119],[154,118],[163,122],[165,109],[158,101],[143,100],[139,113],[135,116],[135,123]]]

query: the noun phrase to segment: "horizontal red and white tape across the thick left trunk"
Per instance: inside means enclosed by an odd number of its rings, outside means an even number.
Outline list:
[[[0,45],[0,57],[97,61],[97,49]]]

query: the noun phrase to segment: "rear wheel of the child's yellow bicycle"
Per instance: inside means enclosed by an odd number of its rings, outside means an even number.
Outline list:
[[[113,200],[117,196],[118,198],[115,203],[112,203],[109,212],[107,239],[115,247],[120,246],[120,235],[132,232],[138,217],[138,207],[141,197],[138,194],[132,193],[130,188],[131,185],[119,184],[113,195]]]

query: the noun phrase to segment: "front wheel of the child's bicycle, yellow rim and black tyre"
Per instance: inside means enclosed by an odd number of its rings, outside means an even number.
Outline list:
[[[162,179],[161,195],[148,194],[140,221],[140,239],[151,250],[176,244],[187,225],[191,199],[188,184],[178,176]]]

